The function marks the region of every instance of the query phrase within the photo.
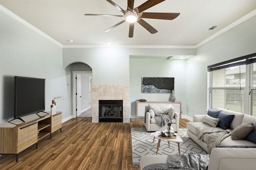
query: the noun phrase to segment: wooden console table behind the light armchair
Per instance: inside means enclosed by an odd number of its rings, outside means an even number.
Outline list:
[[[180,118],[181,118],[181,102],[140,102],[140,101],[136,101],[136,117],[140,116],[140,117],[144,117],[145,116],[145,111],[146,111],[146,107],[148,106],[148,104],[171,104],[175,111],[177,113],[180,113]]]

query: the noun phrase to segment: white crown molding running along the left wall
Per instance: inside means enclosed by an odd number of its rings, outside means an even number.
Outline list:
[[[41,31],[40,29],[36,28],[35,26],[31,25],[30,23],[28,23],[27,21],[25,21],[24,19],[20,18],[19,16],[17,16],[16,14],[14,14],[13,12],[11,12],[10,10],[8,10],[7,8],[5,8],[4,6],[2,6],[0,4],[0,11],[4,12],[5,14],[7,14],[8,16],[12,17],[14,20],[19,21],[20,23],[26,25],[27,27],[29,27],[30,29],[32,29],[33,31],[35,31],[36,33],[38,33],[39,35],[43,36],[44,38],[52,41],[54,44],[63,47],[63,45],[61,43],[59,43],[58,41],[56,41],[55,39],[53,39],[52,37],[50,37],[49,35],[47,35],[46,33],[44,33],[43,31]]]

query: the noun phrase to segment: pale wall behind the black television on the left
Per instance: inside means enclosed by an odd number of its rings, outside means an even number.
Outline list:
[[[70,74],[62,68],[62,47],[2,11],[0,17],[0,123],[14,117],[14,76],[46,78],[46,111],[54,96],[63,96],[57,110],[62,119],[69,117]]]

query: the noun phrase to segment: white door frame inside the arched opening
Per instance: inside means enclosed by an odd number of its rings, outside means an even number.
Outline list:
[[[72,118],[76,117],[76,74],[91,74],[92,71],[72,71]]]

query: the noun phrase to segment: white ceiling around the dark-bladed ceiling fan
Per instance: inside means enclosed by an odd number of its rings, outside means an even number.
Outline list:
[[[127,0],[113,1],[126,9]],[[134,7],[144,2],[135,0]],[[134,37],[129,38],[128,23],[104,32],[123,18],[84,16],[122,15],[106,0],[0,0],[0,4],[62,45],[195,46],[256,9],[256,0],[166,0],[144,12],[177,12],[180,16],[144,19],[158,32],[150,34],[135,23]],[[206,31],[213,25],[218,27]]]

